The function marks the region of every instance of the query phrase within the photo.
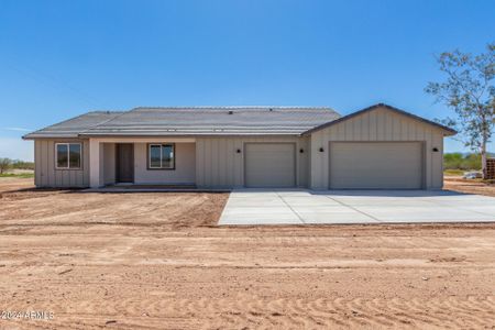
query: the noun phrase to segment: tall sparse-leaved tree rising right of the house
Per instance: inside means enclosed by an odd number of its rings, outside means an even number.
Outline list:
[[[429,82],[425,90],[454,110],[455,118],[443,123],[455,127],[465,146],[481,154],[485,178],[486,145],[495,125],[495,43],[480,55],[457,50],[442,53],[437,59],[447,79]]]

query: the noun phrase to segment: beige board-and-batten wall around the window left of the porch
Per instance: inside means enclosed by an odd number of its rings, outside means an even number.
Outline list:
[[[56,143],[80,143],[81,168],[56,168]],[[36,187],[89,186],[89,142],[79,139],[36,139],[34,141],[34,184]]]

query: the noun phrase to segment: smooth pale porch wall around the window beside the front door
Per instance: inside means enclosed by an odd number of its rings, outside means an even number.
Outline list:
[[[167,142],[156,142],[167,143]],[[134,183],[135,184],[196,184],[196,144],[175,143],[175,169],[147,168],[148,143],[134,143]]]

